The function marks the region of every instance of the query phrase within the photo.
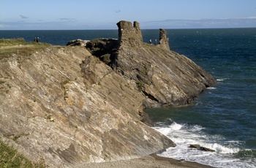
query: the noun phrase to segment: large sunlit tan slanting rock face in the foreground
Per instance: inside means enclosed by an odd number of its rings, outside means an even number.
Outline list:
[[[0,63],[1,140],[49,167],[146,156],[174,146],[140,121],[144,96],[84,47]]]

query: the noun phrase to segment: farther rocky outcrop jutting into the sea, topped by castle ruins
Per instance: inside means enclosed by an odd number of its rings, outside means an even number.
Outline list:
[[[122,75],[136,81],[146,96],[147,107],[191,104],[214,78],[189,58],[169,50],[166,31],[160,29],[160,44],[142,42],[140,27],[135,22],[120,21],[119,47],[112,64]]]

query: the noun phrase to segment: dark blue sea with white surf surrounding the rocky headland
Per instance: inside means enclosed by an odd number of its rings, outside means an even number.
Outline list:
[[[176,143],[159,156],[212,167],[256,167],[256,28],[166,29],[174,50],[217,80],[192,105],[148,109],[154,129]],[[143,41],[159,39],[159,30],[142,30]],[[118,38],[118,30],[0,31],[52,45],[72,39]],[[214,152],[189,148],[200,145]]]

